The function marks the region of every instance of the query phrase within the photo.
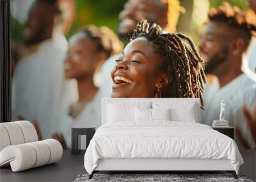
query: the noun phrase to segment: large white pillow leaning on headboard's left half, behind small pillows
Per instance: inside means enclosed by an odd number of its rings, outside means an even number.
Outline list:
[[[134,121],[134,107],[108,104],[107,122]]]

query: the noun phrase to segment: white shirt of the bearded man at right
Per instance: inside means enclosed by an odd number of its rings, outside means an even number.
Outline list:
[[[253,145],[242,107],[244,104],[250,109],[256,107],[254,84],[253,80],[243,73],[221,88],[218,80],[211,86],[207,86],[204,93],[205,110],[202,110],[202,123],[211,126],[213,120],[218,120],[220,117],[220,102],[225,100],[225,119],[228,120],[230,126],[241,126],[244,137]],[[235,140],[239,148],[242,148],[236,135]]]

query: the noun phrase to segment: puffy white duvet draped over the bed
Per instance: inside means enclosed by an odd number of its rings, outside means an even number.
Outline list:
[[[100,126],[84,155],[84,167],[92,174],[100,159],[109,158],[230,160],[237,173],[243,163],[230,137],[207,125],[177,121]]]

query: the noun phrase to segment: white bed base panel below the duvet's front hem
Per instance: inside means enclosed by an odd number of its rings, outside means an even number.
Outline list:
[[[234,171],[230,160],[213,159],[100,159],[94,171]]]

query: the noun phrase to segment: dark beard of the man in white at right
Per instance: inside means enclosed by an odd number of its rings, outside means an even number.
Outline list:
[[[216,69],[221,64],[225,63],[225,61],[227,61],[228,53],[229,53],[229,49],[228,49],[228,47],[225,47],[223,50],[221,50],[214,56],[209,57],[209,59],[207,60],[207,62],[205,64],[205,70],[204,70],[205,73],[206,74],[212,74],[212,73],[214,74]]]

